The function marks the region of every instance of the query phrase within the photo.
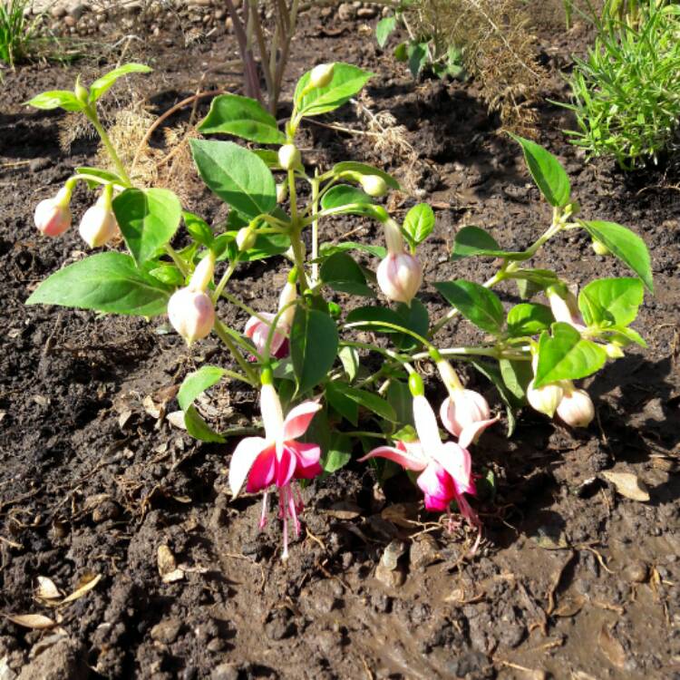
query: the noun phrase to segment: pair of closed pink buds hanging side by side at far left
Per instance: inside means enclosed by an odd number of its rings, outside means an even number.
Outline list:
[[[35,207],[35,227],[44,236],[61,236],[71,227],[72,181],[66,182],[52,199],[41,200]],[[107,184],[97,202],[85,210],[78,231],[90,248],[100,248],[118,232],[118,222],[112,209],[113,187]]]

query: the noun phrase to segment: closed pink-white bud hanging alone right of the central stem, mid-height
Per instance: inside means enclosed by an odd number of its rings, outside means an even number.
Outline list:
[[[406,252],[399,225],[388,219],[384,224],[387,256],[378,265],[375,276],[384,296],[393,302],[411,304],[423,284],[420,260]]]

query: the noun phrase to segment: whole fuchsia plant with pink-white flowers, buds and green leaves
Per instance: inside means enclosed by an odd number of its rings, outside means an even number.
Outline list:
[[[262,524],[267,494],[277,487],[284,559],[288,523],[299,530],[302,500],[296,480],[330,474],[353,459],[370,460],[378,476],[384,458],[417,471],[427,510],[458,510],[480,529],[469,500],[475,493],[470,449],[500,415],[491,413],[481,393],[461,383],[451,362],[467,364],[495,385],[509,413],[509,433],[514,413],[527,403],[561,423],[587,427],[595,407],[574,381],[597,373],[607,360],[622,356],[627,345],[645,346],[630,327],[645,287],[651,291],[653,285],[644,242],[616,223],[580,219],[565,170],[536,143],[514,138],[552,208],[548,228],[515,250],[501,248],[481,228],[459,228],[452,259],[490,258],[500,263],[498,271],[482,283],[460,278],[425,282],[418,248],[434,229],[432,209],[416,204],[399,223],[379,201],[399,189],[389,173],[354,160],[312,173],[296,146],[307,118],[335,111],[372,73],[346,63],[322,64],[306,73],[296,85],[284,130],[253,99],[216,97],[199,132],[239,137],[261,148],[191,140],[200,177],[228,204],[226,224],[210,226],[182,210],[170,190],[139,184],[99,120],[97,101],[112,84],[128,73],[146,71],[128,64],[89,88],[76,83],[73,92],[45,92],[29,102],[82,112],[100,134],[112,165],[77,168],[55,198],[39,203],[36,227],[46,237],[57,237],[71,226],[76,183],[100,189],[80,231],[91,248],[104,249],[54,273],[27,304],[150,319],[167,314],[188,345],[215,335],[231,361],[203,365],[186,376],[178,393],[184,422],[199,440],[225,442],[229,432],[213,431],[195,400],[223,378],[259,390],[266,436],[238,442],[229,486],[234,496],[246,480],[248,492],[264,491]],[[330,241],[325,224],[335,216],[373,222],[384,232],[385,245]],[[112,246],[119,230],[121,246]],[[596,279],[576,296],[558,273],[531,264],[541,248],[576,230],[585,231],[599,252],[617,257],[636,276]],[[267,257],[278,257],[287,269],[287,283],[276,310],[256,311],[238,296],[231,279],[244,263]],[[375,303],[374,283],[392,304]],[[431,319],[419,299],[425,283],[450,306],[439,318]],[[496,287],[504,297],[494,292]],[[508,305],[508,293],[519,295],[521,302]],[[364,303],[345,313],[346,296]],[[224,321],[226,306],[243,315],[238,327]],[[478,345],[447,341],[442,331],[455,316],[480,329]],[[358,335],[366,331],[376,339],[368,342]],[[448,396],[441,404],[441,421],[457,442],[442,442],[415,372],[422,362],[432,362],[442,378]],[[409,399],[413,409],[404,410]],[[366,442],[375,439],[384,444],[368,451]]]

